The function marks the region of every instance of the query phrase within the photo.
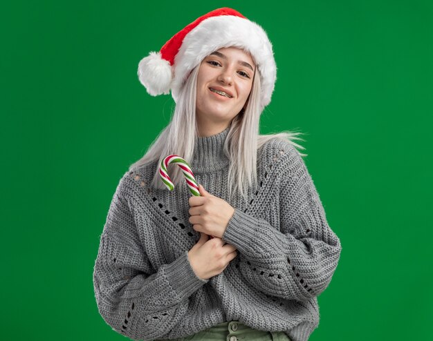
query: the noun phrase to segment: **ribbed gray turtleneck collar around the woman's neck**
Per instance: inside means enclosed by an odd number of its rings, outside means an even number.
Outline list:
[[[208,173],[227,167],[228,157],[224,154],[224,142],[230,126],[216,135],[196,137],[191,168],[193,173]]]

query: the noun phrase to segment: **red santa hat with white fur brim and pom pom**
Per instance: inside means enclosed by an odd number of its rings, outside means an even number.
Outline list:
[[[225,47],[250,52],[261,77],[261,108],[270,102],[277,67],[272,44],[261,26],[232,8],[219,8],[199,17],[177,32],[159,52],[150,52],[138,64],[138,79],[149,95],[168,94],[177,101],[190,75],[210,53]]]

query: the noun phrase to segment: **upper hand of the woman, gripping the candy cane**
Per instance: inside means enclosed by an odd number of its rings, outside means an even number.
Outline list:
[[[228,222],[234,214],[234,208],[225,200],[215,197],[203,186],[199,186],[201,197],[192,196],[188,200],[191,208],[190,223],[197,232],[222,238]]]

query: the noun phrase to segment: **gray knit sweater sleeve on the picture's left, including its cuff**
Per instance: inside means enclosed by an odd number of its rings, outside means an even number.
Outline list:
[[[152,270],[120,187],[109,208],[93,270],[98,311],[113,330],[132,340],[169,338],[187,313],[190,295],[208,280],[195,275],[187,251]]]

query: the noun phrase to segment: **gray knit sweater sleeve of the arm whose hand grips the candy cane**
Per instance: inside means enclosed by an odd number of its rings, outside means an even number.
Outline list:
[[[266,295],[308,300],[331,282],[341,244],[304,161],[295,148],[287,153],[275,202],[280,226],[235,208],[223,240],[241,253],[239,270],[252,286]]]

